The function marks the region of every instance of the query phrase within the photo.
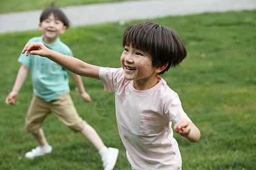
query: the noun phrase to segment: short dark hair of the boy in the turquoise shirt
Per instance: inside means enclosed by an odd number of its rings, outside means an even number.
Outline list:
[[[67,16],[64,14],[64,12],[61,11],[59,8],[55,8],[55,7],[46,8],[42,12],[42,14],[40,16],[40,23],[42,23],[44,20],[46,20],[50,14],[53,14],[56,19],[63,22],[63,24],[65,26],[67,26],[67,28],[70,26],[69,20],[68,20]]]

